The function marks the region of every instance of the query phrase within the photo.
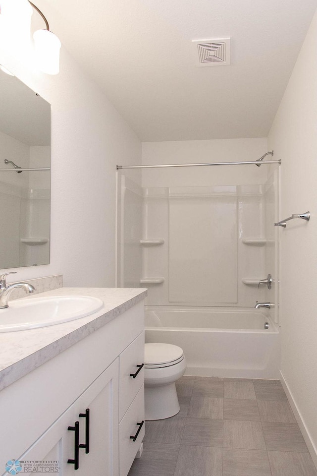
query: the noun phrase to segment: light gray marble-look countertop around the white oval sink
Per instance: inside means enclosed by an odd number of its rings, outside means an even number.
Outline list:
[[[146,289],[59,288],[29,296],[93,296],[104,307],[90,316],[53,326],[0,333],[0,390],[106,325],[146,297]]]

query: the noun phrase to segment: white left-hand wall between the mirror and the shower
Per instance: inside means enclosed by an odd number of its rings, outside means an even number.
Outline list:
[[[0,49],[0,63],[52,104],[51,263],[16,269],[18,278],[114,286],[115,165],[140,162],[138,138],[63,47],[57,76],[18,52]]]

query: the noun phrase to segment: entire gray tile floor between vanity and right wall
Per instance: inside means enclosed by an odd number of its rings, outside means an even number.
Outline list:
[[[317,476],[276,380],[182,377],[181,410],[147,421],[128,476]]]

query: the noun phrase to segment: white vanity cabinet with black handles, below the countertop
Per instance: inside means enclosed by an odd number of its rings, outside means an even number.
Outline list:
[[[126,476],[144,436],[143,361],[141,301],[2,390],[0,474],[16,459]]]

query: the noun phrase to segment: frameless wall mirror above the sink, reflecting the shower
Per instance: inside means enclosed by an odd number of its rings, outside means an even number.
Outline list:
[[[50,168],[51,105],[0,70],[0,269],[50,262]]]

